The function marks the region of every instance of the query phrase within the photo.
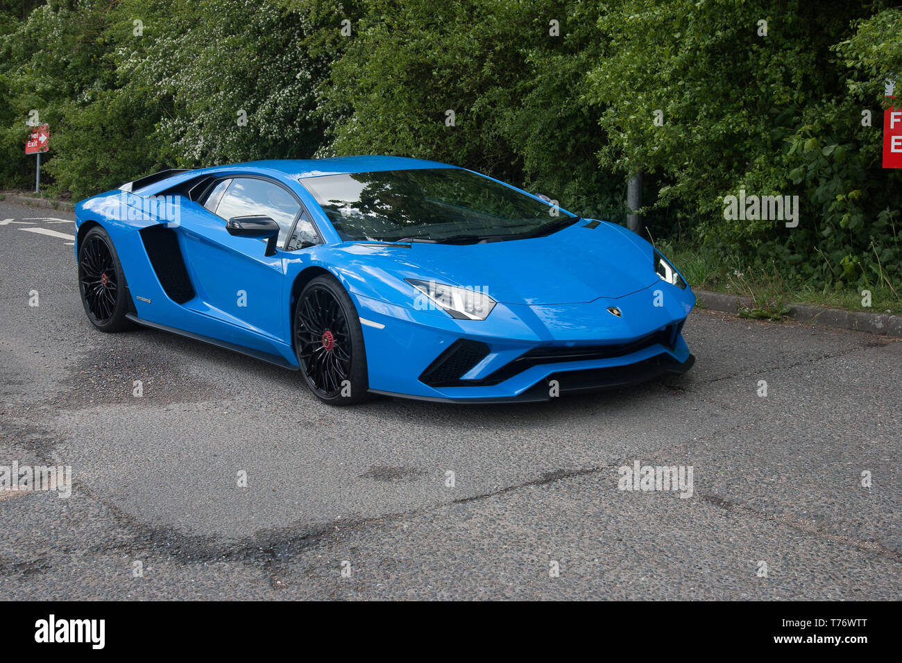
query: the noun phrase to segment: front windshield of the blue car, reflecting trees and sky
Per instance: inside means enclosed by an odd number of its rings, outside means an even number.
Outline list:
[[[300,180],[345,241],[501,241],[545,235],[576,216],[469,170],[435,168]]]

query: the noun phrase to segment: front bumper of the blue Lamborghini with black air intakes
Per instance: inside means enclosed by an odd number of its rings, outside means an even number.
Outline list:
[[[486,320],[352,297],[365,321],[370,391],[392,396],[548,401],[686,373],[695,361],[682,336],[695,296],[664,282],[584,304],[499,303]]]

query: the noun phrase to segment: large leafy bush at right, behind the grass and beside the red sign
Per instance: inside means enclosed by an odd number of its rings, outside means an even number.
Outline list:
[[[844,2],[618,5],[598,21],[610,49],[590,73],[610,136],[603,167],[658,177],[659,235],[674,235],[661,223],[674,214],[682,241],[758,269],[776,262],[790,281],[898,282],[900,178],[881,168],[878,95],[902,71],[900,22],[897,10],[862,14]],[[799,196],[798,227],[724,218],[724,197],[741,189]]]

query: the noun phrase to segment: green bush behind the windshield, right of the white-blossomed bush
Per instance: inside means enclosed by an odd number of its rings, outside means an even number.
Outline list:
[[[323,95],[334,121],[320,154],[447,161],[587,216],[621,215],[622,182],[595,165],[603,133],[581,98],[598,52],[589,5],[412,0],[399,9],[374,0],[364,7]]]

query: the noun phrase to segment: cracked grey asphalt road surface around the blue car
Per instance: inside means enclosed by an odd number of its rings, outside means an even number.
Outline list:
[[[69,499],[0,492],[0,599],[902,591],[902,343],[696,310],[682,378],[334,409],[270,364],[97,332],[72,218],[0,203],[0,466],[72,468]],[[619,490],[635,461],[691,466],[692,496]]]

